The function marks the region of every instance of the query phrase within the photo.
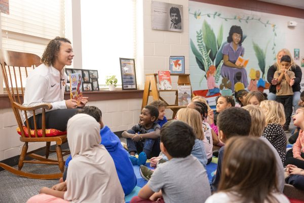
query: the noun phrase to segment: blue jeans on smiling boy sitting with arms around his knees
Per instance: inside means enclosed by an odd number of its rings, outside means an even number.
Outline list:
[[[136,132],[132,129],[127,130],[130,134],[135,134]],[[150,129],[147,131],[154,132],[154,129]],[[147,158],[151,158],[154,156],[158,156],[161,152],[160,149],[160,139],[144,139],[143,141],[134,142],[132,139],[127,138],[127,147],[129,152],[137,152],[139,154],[140,152],[144,152],[147,155]]]

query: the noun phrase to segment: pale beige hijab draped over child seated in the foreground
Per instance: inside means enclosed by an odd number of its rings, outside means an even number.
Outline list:
[[[125,202],[114,162],[100,145],[100,124],[87,114],[67,122],[72,160],[67,171],[64,199],[71,202]]]

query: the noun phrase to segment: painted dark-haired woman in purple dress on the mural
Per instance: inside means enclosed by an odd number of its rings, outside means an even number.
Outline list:
[[[231,90],[235,88],[235,75],[237,72],[242,73],[241,83],[245,88],[248,86],[247,72],[243,65],[236,65],[239,56],[244,55],[244,47],[242,47],[243,31],[240,26],[233,25],[230,28],[229,36],[227,37],[227,44],[223,46],[223,65],[221,67],[221,76],[226,77],[231,82]]]

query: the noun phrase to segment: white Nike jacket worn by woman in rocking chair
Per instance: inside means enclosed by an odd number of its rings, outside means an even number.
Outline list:
[[[64,79],[64,81],[62,82],[60,79]],[[66,109],[63,98],[66,80],[67,76],[64,73],[64,69],[60,73],[53,66],[39,65],[26,79],[23,106],[33,107],[43,103],[50,103],[53,108],[46,111]],[[42,110],[35,111],[35,114],[40,113],[42,113]],[[22,115],[25,120],[24,112],[22,112]],[[27,117],[31,116],[32,111],[28,111]]]

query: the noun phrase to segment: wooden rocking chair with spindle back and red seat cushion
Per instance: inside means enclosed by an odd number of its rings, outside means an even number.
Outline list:
[[[45,110],[52,109],[51,104],[42,104],[35,107],[25,107],[23,104],[24,96],[24,81],[27,78],[28,72],[32,71],[36,66],[41,64],[39,56],[30,53],[22,53],[15,51],[1,51],[1,69],[4,77],[7,93],[9,95],[10,103],[15,114],[19,134],[21,134],[20,141],[24,142],[22,151],[19,158],[18,170],[7,164],[0,162],[0,167],[5,170],[33,179],[58,179],[62,177],[64,171],[63,156],[69,154],[69,151],[62,151],[61,145],[67,142],[66,132],[63,132],[60,136],[47,137],[46,136],[46,124],[45,124]],[[34,122],[34,129],[30,129],[29,121],[26,111],[31,111],[33,114],[33,120],[35,121],[35,111],[42,109],[42,129],[37,129],[37,124]],[[22,122],[21,112],[24,112],[26,118],[26,126]],[[58,131],[58,130],[57,130]],[[59,131],[61,132],[61,131]],[[27,152],[29,142],[46,142],[46,146]],[[50,151],[51,142],[56,142],[56,151]],[[40,156],[34,154],[35,152],[46,148],[46,156]],[[56,152],[57,160],[49,159],[49,153]],[[62,152],[65,152],[62,154]],[[25,160],[25,156],[29,156],[35,160]],[[58,164],[61,173],[57,174],[33,174],[21,171],[24,163],[39,163],[39,164]]]

